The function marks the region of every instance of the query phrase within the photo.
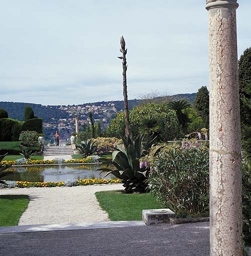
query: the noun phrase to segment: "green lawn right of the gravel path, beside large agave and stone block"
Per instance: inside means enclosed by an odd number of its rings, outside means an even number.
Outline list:
[[[141,220],[142,209],[162,208],[151,193],[126,194],[120,191],[100,191],[95,195],[110,220]]]

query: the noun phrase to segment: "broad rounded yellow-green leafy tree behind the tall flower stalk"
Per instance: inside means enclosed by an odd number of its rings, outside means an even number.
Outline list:
[[[176,114],[168,108],[166,103],[148,103],[135,107],[129,111],[129,116],[132,134],[138,134],[139,129],[145,127],[145,124],[142,123],[143,118],[155,118],[157,125],[161,127],[155,133],[158,135],[158,140],[172,140],[182,135]],[[116,114],[116,117],[111,119],[106,133],[110,137],[124,136],[123,112]]]

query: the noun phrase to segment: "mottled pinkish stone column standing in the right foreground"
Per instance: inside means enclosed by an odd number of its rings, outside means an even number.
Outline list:
[[[206,0],[210,84],[210,255],[242,255],[236,0]]]

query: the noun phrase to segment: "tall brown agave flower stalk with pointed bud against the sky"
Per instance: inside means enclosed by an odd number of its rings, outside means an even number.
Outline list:
[[[125,136],[131,137],[131,130],[130,130],[130,121],[129,121],[129,113],[128,113],[128,99],[127,99],[127,85],[126,85],[126,70],[127,70],[127,65],[126,65],[126,53],[127,49],[125,49],[125,41],[123,36],[120,38],[120,52],[122,52],[123,56],[118,57],[122,59],[122,67],[123,67],[123,96],[124,96],[124,118],[125,118]]]

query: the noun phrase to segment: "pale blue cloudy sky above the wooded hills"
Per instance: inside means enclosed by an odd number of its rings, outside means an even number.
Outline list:
[[[251,46],[251,1],[238,0],[238,56]],[[0,101],[122,100],[208,87],[205,0],[0,0]]]

